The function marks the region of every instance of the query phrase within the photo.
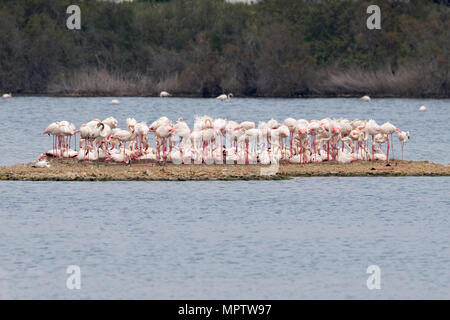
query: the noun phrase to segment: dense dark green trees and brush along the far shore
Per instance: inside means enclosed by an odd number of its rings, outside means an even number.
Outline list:
[[[66,28],[78,4],[82,29]],[[449,1],[0,1],[0,90],[450,96]]]

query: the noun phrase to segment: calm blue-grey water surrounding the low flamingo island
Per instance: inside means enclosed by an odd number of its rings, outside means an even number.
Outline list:
[[[448,100],[110,100],[0,101],[0,165],[35,159],[56,119],[109,115],[391,120],[412,133],[406,158],[450,159]],[[449,191],[448,177],[0,181],[0,298],[449,299]],[[69,265],[81,290],[66,288]],[[366,287],[369,265],[381,290]]]

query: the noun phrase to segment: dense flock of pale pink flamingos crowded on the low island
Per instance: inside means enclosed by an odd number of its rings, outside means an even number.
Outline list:
[[[401,143],[402,159],[403,146],[410,136],[389,122],[379,125],[374,120],[287,118],[278,122],[272,118],[256,125],[208,116],[196,116],[192,130],[182,118],[174,123],[161,117],[149,126],[128,118],[126,129],[120,129],[117,119],[108,117],[103,121],[93,119],[79,129],[68,121],[53,122],[43,134],[53,137],[53,145],[40,155],[42,161],[53,157],[208,165],[389,162],[393,134]],[[153,146],[149,135],[154,136]],[[383,144],[386,152],[382,151]]]

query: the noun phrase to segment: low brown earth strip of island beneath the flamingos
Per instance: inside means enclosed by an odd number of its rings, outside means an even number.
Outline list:
[[[399,177],[450,176],[450,166],[428,161],[393,160],[267,165],[161,165],[157,163],[79,162],[51,159],[50,168],[33,163],[0,167],[0,180],[30,181],[196,181],[196,180],[283,180],[293,177]]]

